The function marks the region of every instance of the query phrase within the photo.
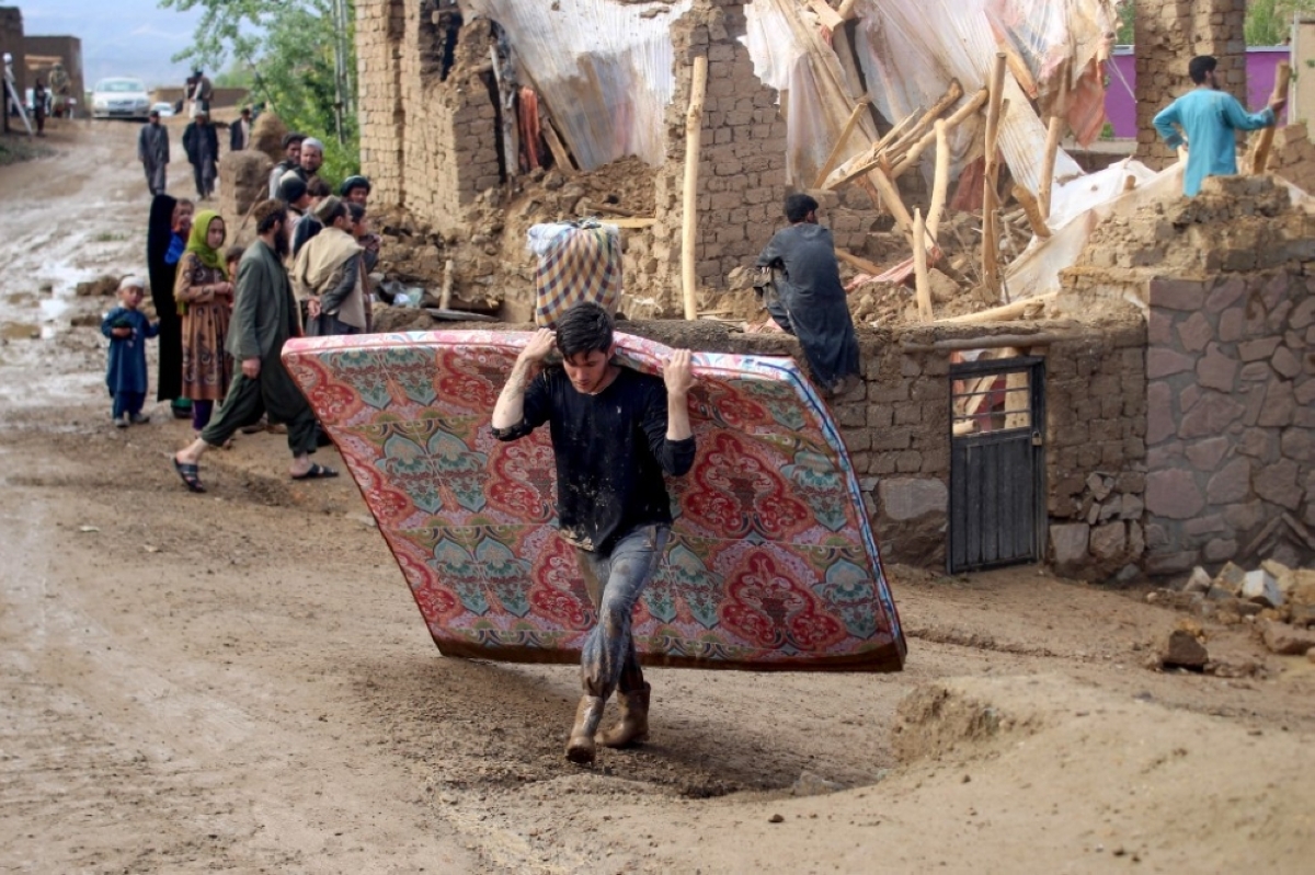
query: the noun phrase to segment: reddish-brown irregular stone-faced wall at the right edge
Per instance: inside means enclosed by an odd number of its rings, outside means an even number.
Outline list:
[[[1151,285],[1147,570],[1315,558],[1315,277]]]

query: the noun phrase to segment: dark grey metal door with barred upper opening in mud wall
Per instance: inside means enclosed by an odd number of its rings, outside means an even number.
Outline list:
[[[951,365],[951,574],[1043,554],[1044,363],[1019,356]]]

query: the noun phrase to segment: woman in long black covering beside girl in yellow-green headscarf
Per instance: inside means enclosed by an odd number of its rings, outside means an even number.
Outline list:
[[[183,395],[183,323],[178,318],[174,284],[178,261],[192,233],[192,201],[156,194],[146,226],[146,265],[151,277],[151,301],[160,321],[159,370],[155,399],[168,401],[175,419],[192,415],[192,402]]]

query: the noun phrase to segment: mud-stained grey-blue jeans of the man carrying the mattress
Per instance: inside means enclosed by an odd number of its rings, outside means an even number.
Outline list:
[[[598,623],[580,653],[580,679],[592,696],[606,699],[614,690],[635,692],[644,686],[630,619],[661,564],[669,535],[669,526],[640,526],[617,541],[610,556],[576,550],[589,600],[598,610]]]

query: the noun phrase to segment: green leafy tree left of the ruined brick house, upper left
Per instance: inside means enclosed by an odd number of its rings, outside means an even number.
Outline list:
[[[289,129],[323,141],[321,176],[337,184],[356,172],[360,134],[354,110],[354,0],[159,0],[159,5],[201,11],[192,46],[175,60],[192,60],[210,70],[233,62],[229,74],[237,68],[250,74],[252,101],[263,101]],[[334,16],[339,5],[343,34]],[[337,76],[339,45],[345,53],[342,83]]]

